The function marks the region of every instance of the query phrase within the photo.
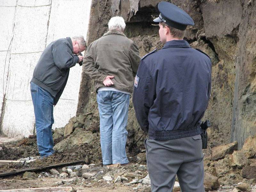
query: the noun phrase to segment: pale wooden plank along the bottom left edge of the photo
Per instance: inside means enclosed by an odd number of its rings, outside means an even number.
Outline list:
[[[22,192],[72,192],[72,187],[45,187],[45,188],[28,188],[28,189],[7,189],[7,190],[0,190],[0,192],[15,192],[15,191],[22,191]]]

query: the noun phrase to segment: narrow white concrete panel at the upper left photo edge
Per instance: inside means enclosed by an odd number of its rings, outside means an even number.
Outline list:
[[[1,2],[0,2],[1,5]],[[13,22],[15,15],[15,7],[1,7],[0,6],[0,34],[1,43],[0,51],[7,51],[12,39]]]

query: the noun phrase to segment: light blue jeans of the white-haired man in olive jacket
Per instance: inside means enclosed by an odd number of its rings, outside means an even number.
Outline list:
[[[129,101],[129,94],[116,91],[97,93],[103,164],[129,163],[125,152]]]

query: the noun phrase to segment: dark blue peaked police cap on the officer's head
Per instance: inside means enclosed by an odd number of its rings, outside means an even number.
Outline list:
[[[167,25],[182,31],[184,31],[188,25],[195,25],[188,13],[172,3],[165,1],[160,2],[158,4],[158,10],[160,15],[153,20],[157,23],[164,22]]]

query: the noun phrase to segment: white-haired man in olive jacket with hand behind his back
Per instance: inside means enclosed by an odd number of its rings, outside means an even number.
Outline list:
[[[136,44],[124,35],[122,17],[111,18],[108,28],[107,33],[88,47],[83,67],[95,81],[103,165],[127,164],[128,108],[140,56]]]

